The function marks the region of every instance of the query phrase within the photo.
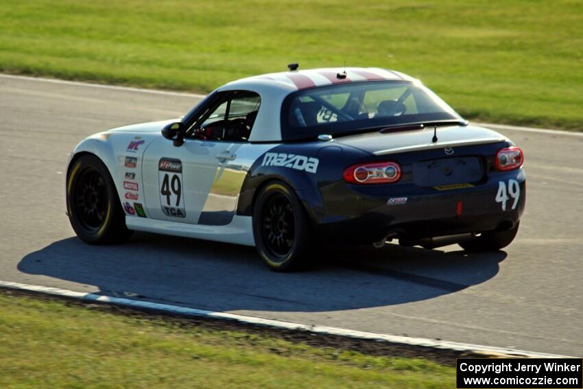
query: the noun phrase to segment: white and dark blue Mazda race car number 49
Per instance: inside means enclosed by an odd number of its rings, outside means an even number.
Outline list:
[[[523,151],[398,71],[327,68],[229,82],[181,119],[79,143],[67,214],[88,244],[132,231],[255,246],[285,271],[316,248],[499,250],[525,208]]]

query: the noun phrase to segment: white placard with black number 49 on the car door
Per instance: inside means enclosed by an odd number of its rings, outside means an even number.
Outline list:
[[[180,159],[161,158],[158,163],[160,206],[167,216],[186,217],[185,200],[182,196],[182,162]]]

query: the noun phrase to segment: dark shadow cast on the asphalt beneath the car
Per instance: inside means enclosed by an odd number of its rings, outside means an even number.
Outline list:
[[[254,248],[136,233],[116,246],[62,239],[26,255],[18,268],[99,294],[201,309],[333,311],[454,293],[491,279],[505,257],[388,245],[331,250],[309,271],[282,274],[268,270]]]

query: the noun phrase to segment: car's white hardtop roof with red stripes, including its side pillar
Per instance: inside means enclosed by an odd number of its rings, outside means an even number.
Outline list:
[[[343,74],[344,72],[346,72],[346,78],[337,77],[339,73]],[[398,71],[376,67],[337,67],[254,75],[224,84],[217,91],[258,93],[261,96],[261,108],[259,108],[249,140],[276,142],[282,139],[279,117],[281,106],[285,97],[290,93],[318,86],[384,80],[414,81],[415,79]]]

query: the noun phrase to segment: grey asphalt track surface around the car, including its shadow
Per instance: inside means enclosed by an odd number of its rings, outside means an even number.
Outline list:
[[[0,280],[214,311],[583,355],[583,137],[500,127],[526,154],[527,209],[505,251],[389,245],[267,270],[253,248],[135,234],[87,246],[64,164],[88,134],[178,117],[198,97],[0,76]]]

